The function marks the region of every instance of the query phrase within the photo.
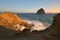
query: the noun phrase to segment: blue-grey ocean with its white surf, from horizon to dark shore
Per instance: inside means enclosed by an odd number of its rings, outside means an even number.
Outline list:
[[[28,22],[34,24],[33,30],[44,30],[52,24],[53,17],[56,14],[36,14],[36,13],[16,13],[17,16]]]

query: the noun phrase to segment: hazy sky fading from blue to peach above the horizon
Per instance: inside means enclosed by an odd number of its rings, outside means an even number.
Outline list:
[[[0,0],[0,11],[36,12],[39,8],[60,12],[60,0]]]

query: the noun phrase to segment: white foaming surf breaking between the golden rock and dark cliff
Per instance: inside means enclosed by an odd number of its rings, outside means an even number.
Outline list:
[[[37,30],[37,31],[44,30],[51,25],[51,24],[43,23],[43,22],[40,22],[40,21],[37,21],[37,20],[24,20],[24,21],[28,22],[31,25],[34,25],[31,28],[31,32],[33,30]]]

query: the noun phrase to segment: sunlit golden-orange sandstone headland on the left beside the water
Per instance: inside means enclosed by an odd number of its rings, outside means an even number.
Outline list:
[[[4,12],[0,14],[0,25],[8,29],[19,30],[17,26],[23,25],[24,21],[16,14],[11,12]]]

